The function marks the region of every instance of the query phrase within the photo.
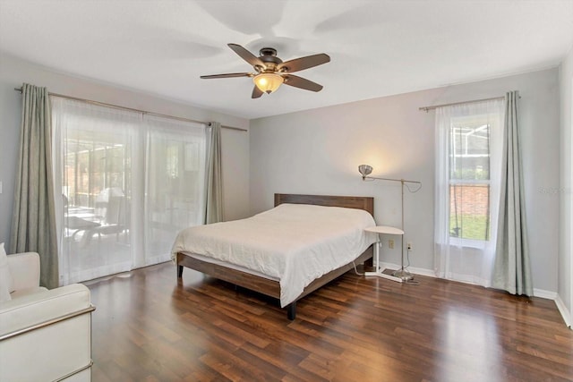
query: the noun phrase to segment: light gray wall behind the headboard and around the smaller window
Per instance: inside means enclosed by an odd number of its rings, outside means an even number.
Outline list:
[[[526,208],[534,286],[557,292],[560,183],[559,70],[375,98],[251,121],[251,210],[272,207],[274,192],[375,197],[380,225],[400,225],[399,183],[363,183],[373,174],[422,181],[406,192],[405,240],[412,267],[433,268],[434,114],[420,106],[505,95],[519,90]],[[327,84],[328,86],[328,84]],[[383,260],[399,264],[399,244]]]

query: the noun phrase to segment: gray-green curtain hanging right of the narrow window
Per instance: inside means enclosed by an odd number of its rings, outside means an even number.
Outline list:
[[[492,286],[512,294],[533,295],[526,234],[526,210],[519,153],[517,91],[506,94],[500,219]]]

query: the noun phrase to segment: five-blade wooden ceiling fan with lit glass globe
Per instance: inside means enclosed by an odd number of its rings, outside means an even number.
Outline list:
[[[227,45],[233,49],[237,55],[243,58],[244,61],[252,64],[252,68],[255,72],[211,74],[201,76],[202,79],[251,77],[255,85],[252,89],[252,98],[260,98],[263,93],[270,94],[277,90],[283,83],[285,85],[294,86],[295,88],[311,91],[321,91],[322,89],[322,85],[291,73],[329,63],[329,55],[325,55],[324,53],[319,55],[307,55],[283,63],[283,61],[277,57],[277,49],[272,47],[263,47],[259,51],[260,56],[257,57],[240,45]]]

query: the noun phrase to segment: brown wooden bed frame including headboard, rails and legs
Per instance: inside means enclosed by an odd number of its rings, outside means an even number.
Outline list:
[[[296,195],[296,194],[275,194],[275,207],[282,203],[293,204],[314,204],[327,207],[346,207],[364,209],[374,216],[374,199],[372,197],[355,197],[355,196],[326,196],[326,195]],[[328,284],[338,276],[342,276],[348,270],[354,267],[353,263],[361,264],[364,261],[372,259],[372,245],[355,259],[343,267],[339,267],[328,274],[317,278],[301,293],[295,301],[286,306],[286,315],[288,319],[293,320],[296,317],[296,301],[302,299],[305,295],[319,289],[322,285]],[[216,277],[228,283],[243,286],[252,291],[280,299],[280,284],[278,281],[269,280],[261,276],[254,276],[236,269],[220,266],[200,259],[194,259],[188,256],[185,251],[177,252],[177,277],[183,276],[183,268],[189,267],[209,276]]]

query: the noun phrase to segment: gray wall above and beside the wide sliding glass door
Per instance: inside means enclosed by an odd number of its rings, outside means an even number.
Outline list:
[[[22,82],[47,87],[48,91],[66,96],[200,121],[218,121],[224,125],[249,129],[249,121],[244,118],[221,115],[111,84],[72,77],[12,56],[0,55],[0,182],[3,183],[3,192],[0,194],[0,242],[7,242],[10,235],[21,123],[21,95],[14,88],[20,88]],[[225,218],[231,220],[245,217],[249,213],[249,132],[223,129],[221,136],[223,182],[226,190],[224,213]]]

